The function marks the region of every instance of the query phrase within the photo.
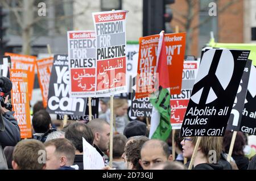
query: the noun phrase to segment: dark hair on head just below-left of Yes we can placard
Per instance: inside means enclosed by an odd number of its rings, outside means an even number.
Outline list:
[[[46,110],[40,110],[32,118],[32,125],[36,133],[46,133],[51,124],[51,117]]]

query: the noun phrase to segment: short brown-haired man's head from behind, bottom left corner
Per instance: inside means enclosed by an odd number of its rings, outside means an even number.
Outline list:
[[[22,140],[18,142],[13,151],[14,170],[43,170],[46,148],[38,140]]]

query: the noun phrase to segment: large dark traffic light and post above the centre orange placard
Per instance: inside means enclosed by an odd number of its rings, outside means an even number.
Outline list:
[[[158,34],[162,30],[171,31],[170,4],[174,2],[175,0],[143,0],[143,36]]]

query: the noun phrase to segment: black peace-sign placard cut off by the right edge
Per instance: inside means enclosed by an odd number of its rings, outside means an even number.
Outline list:
[[[256,135],[256,68],[251,66],[248,89],[243,108],[240,131]]]

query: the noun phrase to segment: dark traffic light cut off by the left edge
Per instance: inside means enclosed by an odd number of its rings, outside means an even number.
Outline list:
[[[5,53],[6,45],[8,40],[6,39],[6,30],[7,27],[4,26],[4,18],[7,15],[6,12],[3,12],[3,8],[0,6],[0,55]]]

